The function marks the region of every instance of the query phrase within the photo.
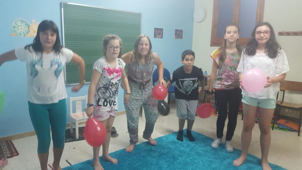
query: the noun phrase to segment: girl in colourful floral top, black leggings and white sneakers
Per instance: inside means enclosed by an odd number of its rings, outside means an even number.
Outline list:
[[[217,138],[211,144],[213,148],[218,148],[222,143],[223,129],[226,118],[227,124],[225,148],[228,152],[233,152],[231,140],[234,135],[237,124],[237,115],[241,100],[241,89],[238,79],[237,66],[240,61],[241,48],[238,44],[239,28],[235,24],[230,24],[224,32],[222,47],[215,50],[211,57],[213,58],[212,71],[210,76],[209,90],[207,100],[212,97],[214,83],[215,99],[218,109],[218,118],[216,123]]]

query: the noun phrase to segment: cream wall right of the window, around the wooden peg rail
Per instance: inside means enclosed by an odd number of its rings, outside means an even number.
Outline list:
[[[277,41],[284,50],[290,71],[285,80],[302,82],[302,36],[278,36],[279,31],[302,31],[301,0],[265,0],[263,21],[274,28]],[[302,103],[302,93],[285,93],[285,99],[292,103]],[[279,96],[281,100],[282,96]]]

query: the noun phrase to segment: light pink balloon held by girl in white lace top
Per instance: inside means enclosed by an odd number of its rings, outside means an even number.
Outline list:
[[[248,70],[242,78],[243,88],[249,93],[259,92],[264,88],[265,83],[265,74],[257,68]]]

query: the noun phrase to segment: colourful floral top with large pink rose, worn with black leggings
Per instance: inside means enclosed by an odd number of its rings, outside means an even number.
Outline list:
[[[230,90],[240,86],[237,67],[241,55],[237,53],[226,53],[224,62],[219,60],[220,50],[215,50],[211,57],[218,66],[214,88],[217,90]]]

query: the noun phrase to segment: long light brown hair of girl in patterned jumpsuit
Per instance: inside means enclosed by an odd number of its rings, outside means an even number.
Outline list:
[[[141,64],[141,61],[142,61],[142,56],[140,55],[140,53],[138,52],[138,45],[140,44],[140,40],[142,39],[142,38],[147,38],[148,39],[148,41],[149,41],[149,51],[148,51],[148,53],[147,53],[147,55],[146,55],[146,63],[149,63],[150,61],[151,61],[151,58],[152,58],[152,44],[151,44],[151,41],[150,41],[150,38],[147,36],[147,35],[144,35],[144,34],[142,34],[142,35],[140,35],[137,39],[136,39],[136,41],[135,41],[135,43],[134,43],[134,51],[132,51],[132,54],[134,55],[133,57],[133,59],[135,60],[135,61],[137,61],[137,63],[138,64]]]

